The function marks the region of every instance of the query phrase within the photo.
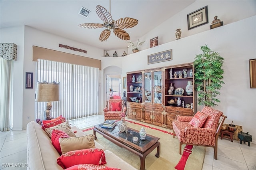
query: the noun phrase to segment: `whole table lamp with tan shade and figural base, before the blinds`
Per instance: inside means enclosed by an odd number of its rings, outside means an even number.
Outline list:
[[[52,109],[52,101],[60,100],[60,82],[55,81],[48,83],[46,81],[36,83],[36,101],[48,102],[44,111],[44,120],[53,119],[50,110]]]

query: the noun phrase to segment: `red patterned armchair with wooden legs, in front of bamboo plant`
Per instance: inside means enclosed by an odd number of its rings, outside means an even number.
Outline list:
[[[182,144],[207,146],[214,148],[214,159],[217,159],[218,135],[226,118],[221,111],[210,107],[204,107],[194,117],[177,115],[172,126],[173,138],[176,134],[180,142],[180,154]]]

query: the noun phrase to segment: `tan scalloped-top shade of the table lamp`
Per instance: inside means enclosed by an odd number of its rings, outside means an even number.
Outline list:
[[[36,83],[36,101],[59,101],[60,100],[60,82],[48,83],[46,81]]]

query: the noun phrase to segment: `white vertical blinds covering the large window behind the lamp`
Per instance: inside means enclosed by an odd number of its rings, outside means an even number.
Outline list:
[[[98,114],[98,68],[38,59],[37,80],[60,82],[60,101],[51,116],[67,120]],[[36,118],[44,120],[46,102],[36,102]]]

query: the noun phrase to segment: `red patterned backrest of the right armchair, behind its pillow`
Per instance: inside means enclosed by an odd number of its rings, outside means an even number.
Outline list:
[[[208,115],[203,127],[216,129],[223,112],[212,109],[210,107],[204,107],[201,112]]]

